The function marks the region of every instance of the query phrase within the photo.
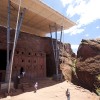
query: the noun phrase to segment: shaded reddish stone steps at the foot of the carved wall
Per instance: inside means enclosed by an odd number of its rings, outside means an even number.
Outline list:
[[[18,89],[21,89],[23,92],[32,91],[32,90],[34,91],[35,82],[38,82],[38,89],[59,83],[58,81],[54,81],[54,80],[49,79],[49,78],[39,79],[37,81],[35,80],[34,82],[31,82],[26,77],[21,77],[19,85],[18,85]]]

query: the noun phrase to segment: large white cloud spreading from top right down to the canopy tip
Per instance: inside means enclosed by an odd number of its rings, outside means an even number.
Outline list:
[[[100,0],[61,0],[63,6],[67,6],[66,14],[67,16],[73,17],[74,15],[78,15],[79,19],[77,19],[78,26],[69,29],[70,34],[78,34],[83,32],[82,26],[86,26],[97,19],[100,19]]]

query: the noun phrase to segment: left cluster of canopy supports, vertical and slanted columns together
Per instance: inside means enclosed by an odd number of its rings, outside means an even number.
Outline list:
[[[20,12],[18,23],[16,25],[15,37],[13,42],[13,48],[11,52],[11,58],[9,59],[9,51],[10,51],[10,16],[11,16],[11,1],[8,0],[8,19],[7,19],[7,67],[6,67],[6,77],[5,81],[8,83],[8,93],[10,92],[10,84],[11,84],[11,75],[12,75],[12,66],[14,59],[14,52],[18,40],[18,36],[20,33],[20,28],[22,25],[23,17],[25,13],[25,8]]]

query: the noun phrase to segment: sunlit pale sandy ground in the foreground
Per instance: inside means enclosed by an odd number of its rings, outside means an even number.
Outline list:
[[[0,100],[67,100],[65,94],[67,88],[70,90],[70,100],[99,100],[99,97],[96,94],[66,81],[41,88],[37,93],[31,91],[17,96],[8,96]]]

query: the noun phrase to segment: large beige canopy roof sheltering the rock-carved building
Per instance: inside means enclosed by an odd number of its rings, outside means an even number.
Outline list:
[[[16,27],[19,0],[11,0],[11,28]],[[8,0],[0,0],[0,25],[7,26]],[[49,25],[56,23],[57,30],[68,29],[75,25],[74,22],[64,17],[57,11],[48,7],[39,0],[22,0],[21,10],[26,8],[21,31],[38,36],[45,36],[50,32]]]

